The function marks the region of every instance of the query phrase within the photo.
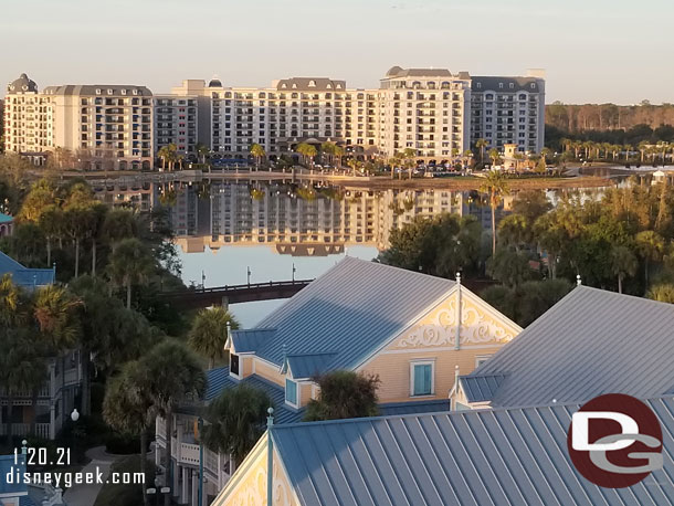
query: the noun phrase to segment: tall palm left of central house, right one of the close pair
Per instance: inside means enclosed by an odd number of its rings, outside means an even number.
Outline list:
[[[166,420],[166,484],[173,483],[171,439],[173,412],[186,400],[198,400],[206,390],[206,375],[194,355],[177,341],[166,340],[155,346],[140,360],[148,378],[144,391],[152,399],[152,410]],[[166,495],[166,505],[170,494]]]

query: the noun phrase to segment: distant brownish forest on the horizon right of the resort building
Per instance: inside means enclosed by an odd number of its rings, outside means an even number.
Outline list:
[[[674,141],[674,105],[615,104],[546,106],[546,145],[561,149],[561,139],[636,146],[642,141]]]

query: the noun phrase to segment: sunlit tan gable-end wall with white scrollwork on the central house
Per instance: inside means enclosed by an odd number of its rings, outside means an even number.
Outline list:
[[[447,399],[454,387],[456,367],[461,375],[472,372],[478,359],[494,355],[522,331],[519,326],[462,287],[456,349],[457,316],[459,294],[454,291],[373,359],[358,368],[362,372],[379,376],[381,383],[378,393],[381,402]],[[426,360],[434,363],[433,394],[412,396],[411,365]]]

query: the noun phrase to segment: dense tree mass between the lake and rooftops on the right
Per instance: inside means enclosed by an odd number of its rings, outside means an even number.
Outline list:
[[[493,211],[508,194],[507,177],[487,178],[480,201]],[[428,274],[488,278],[481,295],[520,325],[561,298],[578,278],[603,289],[673,302],[674,193],[665,182],[631,178],[600,199],[559,191],[520,191],[491,232],[472,215],[417,218],[391,231],[378,261]]]

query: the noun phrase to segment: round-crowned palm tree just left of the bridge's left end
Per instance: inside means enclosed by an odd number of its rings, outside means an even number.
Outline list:
[[[144,283],[155,272],[155,257],[139,239],[125,239],[110,254],[107,266],[110,281],[126,287],[126,308],[131,307],[131,286]]]

